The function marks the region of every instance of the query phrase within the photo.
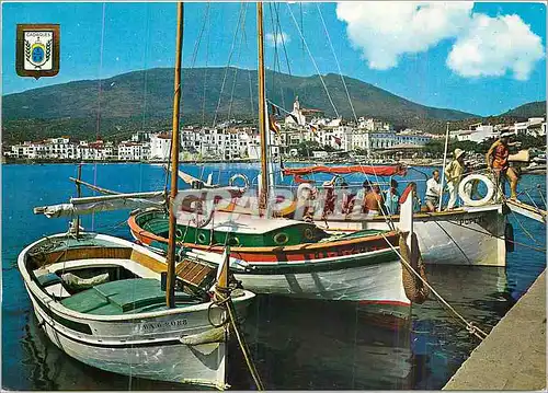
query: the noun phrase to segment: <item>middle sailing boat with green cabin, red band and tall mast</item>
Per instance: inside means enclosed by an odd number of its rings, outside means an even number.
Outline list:
[[[269,217],[273,184],[269,167],[269,128],[264,88],[262,3],[258,2],[259,103],[261,136],[261,180],[258,215],[217,211],[201,221],[178,204],[176,238],[181,252],[213,263],[221,261],[230,245],[230,269],[246,288],[258,293],[276,293],[309,299],[361,301],[380,313],[409,316],[414,301],[403,287],[399,257],[399,230],[365,230],[350,235],[329,235],[313,223]],[[411,204],[409,188],[402,204]],[[409,197],[411,196],[411,197]],[[206,201],[212,205],[212,201]],[[403,209],[400,222],[412,221],[412,209]],[[197,208],[196,208],[197,211]],[[160,210],[133,215],[128,224],[141,244],[165,248],[168,218]],[[407,228],[407,229],[406,229]]]

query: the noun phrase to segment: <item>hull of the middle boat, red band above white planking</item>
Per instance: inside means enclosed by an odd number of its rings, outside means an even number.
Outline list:
[[[130,217],[136,240],[150,246],[165,239],[142,230]],[[246,289],[255,293],[304,299],[344,300],[370,305],[378,313],[409,309],[402,282],[402,266],[395,250],[399,235],[383,234],[341,238],[333,241],[279,247],[230,247],[230,267]],[[189,255],[221,263],[224,247],[181,243]],[[378,308],[383,305],[383,308]]]

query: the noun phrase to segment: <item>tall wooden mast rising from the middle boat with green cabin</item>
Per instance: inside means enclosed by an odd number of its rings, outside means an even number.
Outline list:
[[[259,190],[259,209],[263,211],[269,201],[269,129],[266,127],[266,93],[264,88],[264,39],[263,39],[263,3],[256,3],[256,26],[259,45],[259,135],[261,137],[261,187]]]

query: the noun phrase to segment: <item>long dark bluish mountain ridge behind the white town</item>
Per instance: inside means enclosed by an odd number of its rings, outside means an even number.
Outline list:
[[[346,92],[338,74],[323,77],[334,106],[353,118]],[[401,127],[476,117],[472,114],[416,104],[357,79],[345,77],[357,116],[372,116]],[[222,95],[219,101],[219,92]],[[204,100],[205,92],[205,100]],[[295,96],[301,106],[335,115],[318,76],[294,77],[266,71],[271,101],[290,111]],[[83,80],[9,94],[2,99],[4,141],[48,137],[60,131],[91,138],[124,134],[147,127],[169,127],[173,97],[173,69],[134,71],[113,78]],[[256,117],[256,71],[238,68],[183,70],[183,122],[210,124],[230,117]],[[218,107],[218,111],[217,111]],[[101,120],[98,126],[98,120]],[[24,137],[20,131],[25,130]],[[57,134],[56,134],[57,132]]]

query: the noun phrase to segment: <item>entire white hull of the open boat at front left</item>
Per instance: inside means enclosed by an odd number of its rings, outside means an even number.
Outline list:
[[[153,255],[125,240],[100,236]],[[124,375],[219,390],[227,388],[228,325],[213,335],[215,327],[210,322],[220,325],[226,321],[228,316],[225,310],[217,305],[210,307],[212,302],[203,302],[123,314],[103,315],[93,311],[75,311],[62,302],[55,301],[31,278],[25,267],[26,255],[39,243],[41,241],[31,244],[20,254],[19,267],[38,326],[59,349],[88,366]],[[119,259],[102,261],[102,264],[112,265]],[[233,304],[239,316],[244,314],[253,297],[249,291],[235,297]],[[182,337],[201,337],[207,334],[213,338],[195,339],[194,344],[181,342]]]

